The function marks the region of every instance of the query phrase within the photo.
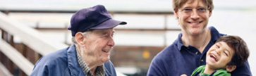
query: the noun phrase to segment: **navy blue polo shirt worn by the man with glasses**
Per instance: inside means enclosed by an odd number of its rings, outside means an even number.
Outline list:
[[[173,44],[167,46],[163,51],[154,56],[147,76],[180,76],[182,74],[191,75],[195,68],[205,65],[205,56],[208,49],[226,34],[220,34],[214,27],[209,27],[212,38],[200,53],[194,46],[185,46],[181,41],[182,34],[178,34]],[[234,76],[251,76],[248,61],[238,66],[236,70],[231,72]]]

